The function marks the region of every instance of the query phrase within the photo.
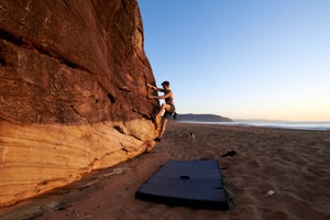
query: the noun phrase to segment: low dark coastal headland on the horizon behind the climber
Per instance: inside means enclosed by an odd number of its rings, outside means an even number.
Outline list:
[[[194,114],[194,113],[183,113],[177,114],[176,120],[178,121],[198,121],[198,122],[231,122],[233,120],[221,117],[218,114]]]

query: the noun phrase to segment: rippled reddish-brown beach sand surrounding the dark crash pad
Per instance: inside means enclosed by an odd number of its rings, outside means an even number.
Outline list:
[[[195,134],[193,139],[189,133]],[[238,154],[221,157],[228,151]],[[228,211],[141,201],[140,186],[167,160],[217,158]],[[267,196],[268,190],[275,194]],[[170,122],[150,153],[0,212],[0,219],[330,219],[330,131]]]

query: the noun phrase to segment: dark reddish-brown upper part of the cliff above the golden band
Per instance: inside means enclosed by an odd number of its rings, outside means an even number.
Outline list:
[[[7,1],[1,120],[95,123],[151,113],[135,1]],[[140,113],[140,114],[139,114]]]

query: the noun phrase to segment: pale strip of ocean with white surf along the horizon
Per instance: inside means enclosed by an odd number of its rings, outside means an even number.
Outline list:
[[[330,121],[324,122],[292,122],[292,121],[233,121],[233,122],[202,122],[202,121],[180,121],[184,123],[202,123],[202,124],[220,124],[220,125],[242,125],[242,127],[264,127],[276,129],[294,129],[294,130],[330,130]]]

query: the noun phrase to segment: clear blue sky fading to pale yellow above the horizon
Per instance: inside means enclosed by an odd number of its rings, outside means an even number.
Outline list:
[[[178,113],[330,121],[330,0],[138,0]]]

